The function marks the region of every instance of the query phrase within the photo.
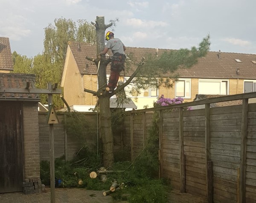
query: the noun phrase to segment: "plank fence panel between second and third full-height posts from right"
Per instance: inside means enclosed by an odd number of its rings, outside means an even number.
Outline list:
[[[183,134],[186,192],[206,196],[204,109],[184,111]]]

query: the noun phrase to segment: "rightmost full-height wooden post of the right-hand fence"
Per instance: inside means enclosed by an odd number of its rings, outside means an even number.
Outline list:
[[[240,155],[240,183],[239,202],[245,202],[245,179],[246,179],[246,148],[247,148],[247,121],[248,121],[248,99],[243,99],[242,121],[241,121],[241,155]]]

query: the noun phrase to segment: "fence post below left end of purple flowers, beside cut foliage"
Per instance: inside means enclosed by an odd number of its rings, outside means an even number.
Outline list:
[[[159,115],[159,152],[158,152],[158,159],[159,159],[159,178],[163,177],[163,112],[160,110],[158,111]]]

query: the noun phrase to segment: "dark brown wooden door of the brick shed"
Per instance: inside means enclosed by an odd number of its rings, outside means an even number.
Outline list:
[[[20,106],[17,101],[0,101],[0,193],[22,191]]]

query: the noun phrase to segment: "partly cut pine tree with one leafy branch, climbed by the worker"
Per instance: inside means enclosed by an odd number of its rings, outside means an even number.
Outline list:
[[[97,54],[99,54],[105,48],[105,30],[112,26],[112,23],[105,25],[104,16],[97,16],[96,23],[93,26],[96,29],[96,44]],[[102,132],[103,143],[103,164],[105,167],[109,167],[113,164],[113,134],[111,129],[111,111],[110,111],[110,97],[117,94],[119,91],[123,91],[125,86],[129,83],[136,81],[137,89],[145,88],[156,78],[161,78],[161,74],[172,74],[178,68],[189,68],[197,63],[198,57],[203,57],[209,51],[209,35],[205,37],[199,44],[198,48],[195,46],[191,49],[180,49],[169,51],[161,54],[159,57],[145,56],[141,59],[140,63],[137,63],[137,68],[131,74],[129,79],[118,86],[113,92],[106,91],[107,77],[106,68],[108,63],[111,62],[109,57],[102,56],[99,58],[86,57],[87,60],[93,61],[97,66],[98,86],[97,91],[84,89],[84,91],[94,94],[98,97],[99,109],[100,109],[100,128]],[[128,63],[128,62],[125,62]],[[156,68],[157,67],[157,68]],[[171,83],[169,80],[160,80],[160,83],[168,85]]]

